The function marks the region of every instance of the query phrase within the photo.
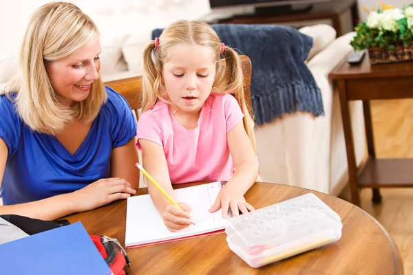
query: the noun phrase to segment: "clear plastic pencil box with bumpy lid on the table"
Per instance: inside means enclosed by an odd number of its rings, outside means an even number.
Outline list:
[[[260,267],[337,241],[341,218],[312,193],[230,218],[229,248]]]

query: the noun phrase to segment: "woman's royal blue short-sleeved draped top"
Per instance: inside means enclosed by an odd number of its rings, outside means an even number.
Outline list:
[[[4,205],[73,192],[109,177],[112,149],[135,137],[136,120],[123,96],[106,91],[107,102],[74,155],[54,135],[31,131],[14,102],[0,96],[0,138],[8,146],[0,188]]]

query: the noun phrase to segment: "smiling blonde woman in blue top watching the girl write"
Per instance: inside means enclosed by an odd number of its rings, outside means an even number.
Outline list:
[[[56,219],[138,188],[136,122],[99,78],[99,34],[71,3],[34,12],[0,95],[0,214]]]

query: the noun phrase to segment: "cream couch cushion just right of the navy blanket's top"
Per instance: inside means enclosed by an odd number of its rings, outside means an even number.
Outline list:
[[[309,61],[313,56],[321,52],[336,37],[336,31],[330,25],[318,24],[299,29],[299,32],[313,37],[313,47],[307,56]]]

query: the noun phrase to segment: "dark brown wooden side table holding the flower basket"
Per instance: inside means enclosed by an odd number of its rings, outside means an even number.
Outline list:
[[[372,201],[381,203],[379,188],[412,187],[413,159],[377,159],[369,100],[413,98],[413,62],[370,65],[368,54],[359,65],[345,58],[330,73],[338,85],[348,159],[352,203],[359,206],[359,188],[373,188]],[[357,168],[348,102],[363,100],[368,159]]]

